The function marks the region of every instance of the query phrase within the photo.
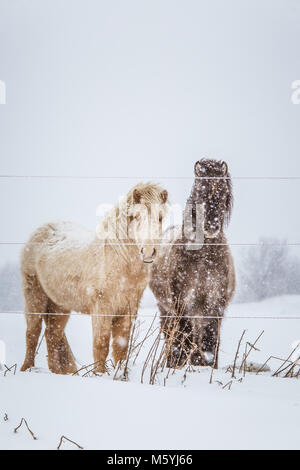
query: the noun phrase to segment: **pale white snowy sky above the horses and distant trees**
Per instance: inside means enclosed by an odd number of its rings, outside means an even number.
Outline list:
[[[300,176],[299,44],[297,0],[0,0],[0,174],[192,177],[205,155]],[[0,241],[57,218],[93,228],[137,181],[0,179]],[[159,181],[184,203],[192,179]],[[234,193],[231,242],[300,242],[300,181]]]

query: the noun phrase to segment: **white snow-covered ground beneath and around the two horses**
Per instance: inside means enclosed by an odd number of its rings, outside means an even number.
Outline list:
[[[154,313],[154,307],[140,310],[140,337]],[[237,370],[231,379],[226,372],[244,329],[239,363],[246,342],[253,343],[263,330],[256,344],[259,351],[251,352],[249,362],[263,364],[269,356],[286,358],[300,341],[300,320],[291,317],[300,317],[300,296],[231,305],[223,322],[220,368],[211,384],[210,368],[185,368],[168,377],[165,370],[158,373],[155,385],[149,385],[148,369],[141,384],[155,335],[136,363],[131,361],[126,382],[114,380],[113,371],[102,377],[51,374],[43,342],[35,370],[15,375],[11,371],[5,377],[0,372],[0,448],[55,449],[65,435],[85,449],[299,449],[300,381],[272,377],[280,365],[277,359],[268,363],[271,371],[258,375],[246,372],[244,376]],[[21,366],[24,333],[22,316],[0,316],[8,366]],[[91,364],[90,319],[72,316],[67,336],[78,367]],[[23,417],[37,440],[24,424],[13,432]],[[74,448],[74,444],[65,442],[62,447]]]

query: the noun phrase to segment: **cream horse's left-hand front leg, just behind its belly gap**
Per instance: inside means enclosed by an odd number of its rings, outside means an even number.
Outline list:
[[[92,312],[94,372],[104,373],[109,352],[109,341],[112,327],[112,313],[109,308],[95,308]]]

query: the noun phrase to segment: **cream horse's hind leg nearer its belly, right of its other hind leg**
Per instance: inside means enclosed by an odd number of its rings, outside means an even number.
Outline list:
[[[72,374],[76,372],[77,368],[64,332],[70,314],[51,301],[49,302],[48,312],[45,318],[45,337],[49,369],[55,374]]]

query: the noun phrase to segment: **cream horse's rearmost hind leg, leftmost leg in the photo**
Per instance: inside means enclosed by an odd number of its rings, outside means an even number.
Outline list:
[[[42,315],[46,313],[48,297],[35,275],[23,274],[26,317],[26,355],[21,371],[34,367],[35,352],[42,329]]]

